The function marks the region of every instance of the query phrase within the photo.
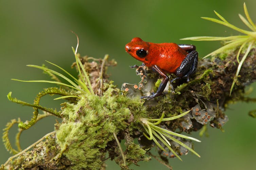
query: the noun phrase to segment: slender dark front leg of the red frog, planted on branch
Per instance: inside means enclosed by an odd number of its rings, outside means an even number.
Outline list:
[[[154,93],[154,94],[152,94],[150,96],[142,96],[141,99],[147,98],[147,100],[149,100],[149,99],[152,99],[154,97],[161,96],[163,91],[164,91],[164,89],[165,89],[165,87],[166,87],[167,82],[169,81],[169,77],[157,65],[153,65],[150,69],[152,69],[153,71],[155,71],[158,74],[160,74],[163,77],[163,80],[160,83],[156,93]]]

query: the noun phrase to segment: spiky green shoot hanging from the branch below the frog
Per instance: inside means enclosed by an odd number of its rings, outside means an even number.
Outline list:
[[[143,123],[143,127],[145,128],[146,132],[148,133],[149,136],[147,136],[145,133],[144,136],[148,139],[148,140],[153,140],[156,145],[161,148],[163,151],[167,152],[158,142],[158,140],[160,140],[175,156],[178,157],[179,160],[181,160],[181,158],[179,157],[179,155],[171,148],[170,142],[167,139],[170,139],[176,143],[178,143],[179,145],[187,148],[188,150],[190,150],[191,152],[193,152],[194,154],[196,154],[198,157],[200,157],[200,155],[195,152],[193,149],[191,149],[190,147],[188,147],[187,145],[185,145],[184,143],[182,143],[181,141],[177,140],[176,138],[170,136],[177,136],[177,137],[181,137],[181,138],[185,138],[185,139],[189,139],[189,140],[193,140],[193,141],[197,141],[197,142],[201,142],[195,138],[192,137],[188,137],[185,135],[181,135],[179,133],[175,133],[172,132],[170,130],[161,128],[159,126],[156,126],[158,124],[160,124],[162,121],[169,121],[169,120],[174,120],[174,119],[178,119],[184,115],[186,115],[187,113],[189,113],[190,111],[184,112],[178,116],[173,116],[173,117],[169,117],[169,118],[163,118],[164,117],[164,113],[162,114],[160,119],[147,119],[147,118],[141,118],[141,122]],[[154,123],[152,123],[151,121],[156,121]],[[167,139],[166,139],[167,138]],[[157,140],[158,139],[158,140]],[[182,160],[181,160],[182,161]]]

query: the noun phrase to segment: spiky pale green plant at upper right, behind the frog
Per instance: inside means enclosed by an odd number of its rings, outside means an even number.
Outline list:
[[[239,50],[238,50],[238,53],[237,53],[237,61],[238,61],[239,65],[238,65],[236,74],[233,78],[232,86],[231,86],[231,89],[230,89],[230,95],[231,95],[232,90],[234,88],[235,82],[237,81],[237,77],[239,75],[239,72],[241,70],[243,62],[246,59],[246,57],[248,56],[250,50],[252,49],[252,46],[255,45],[255,42],[256,42],[256,25],[253,23],[250,15],[248,13],[248,10],[247,10],[247,7],[246,7],[245,3],[243,4],[243,8],[244,8],[244,14],[245,14],[247,20],[240,14],[238,14],[239,18],[252,31],[247,31],[247,30],[238,28],[238,27],[230,24],[229,22],[227,22],[225,20],[225,18],[223,18],[216,11],[214,11],[214,13],[220,18],[220,20],[215,19],[215,18],[208,18],[208,17],[201,17],[201,18],[205,19],[205,20],[212,21],[212,22],[216,22],[218,24],[222,24],[222,25],[227,26],[227,27],[230,27],[230,28],[232,28],[232,29],[234,29],[238,32],[241,32],[243,34],[246,34],[246,35],[236,35],[236,36],[230,36],[230,37],[205,37],[204,36],[204,37],[189,37],[189,38],[181,39],[181,40],[193,40],[193,41],[225,41],[225,45],[223,47],[207,54],[203,58],[219,54],[221,52],[224,52],[227,49],[231,49],[231,48],[236,49],[236,48],[239,47]],[[247,48],[247,50],[244,53],[242,59],[239,60],[239,55],[240,55],[242,49],[246,49],[246,48]]]

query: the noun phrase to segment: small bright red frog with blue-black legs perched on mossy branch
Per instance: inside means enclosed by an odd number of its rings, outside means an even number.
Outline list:
[[[140,38],[133,38],[125,45],[125,50],[135,59],[143,62],[149,69],[157,72],[163,77],[156,93],[141,98],[152,99],[162,95],[169,80],[167,73],[175,73],[175,79],[186,78],[197,70],[198,52],[194,45],[175,43],[148,43]]]

